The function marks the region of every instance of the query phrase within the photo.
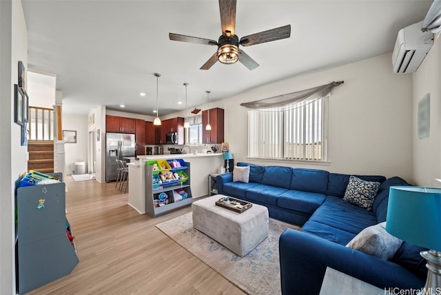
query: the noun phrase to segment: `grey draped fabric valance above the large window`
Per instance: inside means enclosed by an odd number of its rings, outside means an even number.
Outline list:
[[[331,92],[332,88],[342,83],[344,83],[344,81],[333,81],[329,84],[320,85],[307,90],[282,94],[269,97],[268,99],[251,101],[249,103],[240,103],[240,105],[245,108],[262,111],[291,110],[293,108],[298,108],[300,105],[305,105],[305,103],[310,103],[316,99],[320,99],[323,96],[327,96],[329,92]]]

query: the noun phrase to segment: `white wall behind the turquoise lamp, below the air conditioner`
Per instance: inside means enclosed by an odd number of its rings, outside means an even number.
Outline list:
[[[413,179],[416,185],[440,187],[441,178],[441,38],[413,74]],[[430,136],[418,138],[418,102],[430,94]]]

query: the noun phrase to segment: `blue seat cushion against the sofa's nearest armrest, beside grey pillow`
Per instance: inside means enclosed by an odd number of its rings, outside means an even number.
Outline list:
[[[352,232],[347,232],[345,230],[340,230],[331,225],[320,223],[319,221],[307,221],[303,225],[300,232],[307,232],[313,236],[318,236],[319,238],[325,238],[327,241],[338,243],[340,245],[346,245],[351,241],[351,239],[356,236]]]

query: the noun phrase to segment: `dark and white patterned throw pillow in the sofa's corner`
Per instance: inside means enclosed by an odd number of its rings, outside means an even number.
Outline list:
[[[356,176],[349,177],[343,201],[353,203],[367,210],[372,210],[373,199],[375,198],[380,183],[364,181]]]

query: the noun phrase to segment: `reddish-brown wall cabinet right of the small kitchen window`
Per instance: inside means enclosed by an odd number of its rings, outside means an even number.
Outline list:
[[[212,125],[212,130],[205,130],[208,123]],[[212,108],[202,111],[202,143],[223,143],[224,141],[224,110],[221,108]]]

